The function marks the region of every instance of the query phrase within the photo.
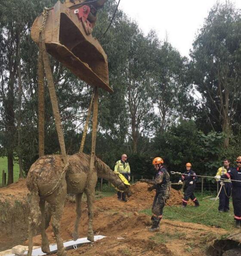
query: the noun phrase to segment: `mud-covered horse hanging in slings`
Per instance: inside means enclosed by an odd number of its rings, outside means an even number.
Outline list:
[[[58,256],[67,255],[60,237],[60,219],[64,208],[67,193],[75,194],[76,199],[76,221],[74,225],[73,238],[78,238],[78,226],[81,216],[81,198],[83,193],[87,196],[88,205],[88,240],[94,241],[93,235],[93,200],[95,196],[95,185],[97,176],[109,180],[119,190],[131,196],[130,186],[125,185],[118,174],[114,173],[108,165],[99,158],[95,158],[95,174],[88,176],[90,170],[90,155],[77,153],[68,156],[68,168],[63,171],[65,164],[61,155],[45,155],[32,164],[27,177],[27,186],[30,193],[29,198],[29,246],[28,256],[31,256],[33,247],[33,235],[35,229],[41,222],[42,251],[49,253],[49,241],[45,232],[44,209],[45,202],[50,205],[52,214],[53,232],[56,237]]]

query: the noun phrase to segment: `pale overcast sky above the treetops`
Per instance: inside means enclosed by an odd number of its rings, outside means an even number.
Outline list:
[[[225,0],[219,0],[224,3]],[[241,8],[241,0],[233,0]],[[154,29],[188,57],[195,34],[216,0],[121,0],[119,8],[136,20],[145,35]]]

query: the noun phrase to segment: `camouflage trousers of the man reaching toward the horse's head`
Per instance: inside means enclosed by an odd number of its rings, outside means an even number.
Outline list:
[[[152,209],[151,209],[154,215],[156,215],[159,218],[162,218],[163,208],[169,196],[170,196],[169,189],[161,191],[160,193],[156,193],[153,200]]]

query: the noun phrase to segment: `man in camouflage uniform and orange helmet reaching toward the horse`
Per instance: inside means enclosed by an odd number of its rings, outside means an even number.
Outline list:
[[[149,231],[159,231],[159,223],[162,219],[163,208],[165,202],[170,196],[170,176],[167,170],[162,165],[164,163],[163,159],[160,157],[156,157],[153,159],[152,164],[157,172],[154,180],[141,179],[140,182],[145,182],[151,184],[148,188],[148,191],[156,190],[156,194],[154,196],[153,204],[152,204],[152,225],[149,228]]]

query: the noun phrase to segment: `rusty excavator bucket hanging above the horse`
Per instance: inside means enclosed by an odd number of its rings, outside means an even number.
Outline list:
[[[97,10],[106,0],[90,6],[84,5],[85,1],[58,1],[49,9],[44,30],[46,50],[83,81],[113,92],[109,87],[107,55],[91,35]],[[42,22],[40,15],[32,25],[31,38],[36,43],[40,40]]]

